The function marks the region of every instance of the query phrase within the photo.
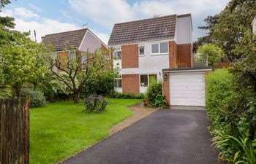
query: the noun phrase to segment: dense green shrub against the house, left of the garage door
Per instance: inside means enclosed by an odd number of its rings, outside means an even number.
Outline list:
[[[153,82],[149,85],[146,98],[149,100],[148,106],[158,106],[158,107],[165,107],[166,101],[165,96],[162,95],[162,83],[161,82]],[[165,103],[165,106],[163,104]]]

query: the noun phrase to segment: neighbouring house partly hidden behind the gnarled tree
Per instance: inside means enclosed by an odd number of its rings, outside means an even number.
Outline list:
[[[107,59],[109,56],[107,53],[108,46],[88,28],[48,34],[46,36],[42,36],[42,42],[45,43],[47,47],[49,47],[50,44],[53,46],[53,59],[72,59],[76,58],[78,55],[81,55],[82,52],[94,53],[95,50],[98,49],[106,52]],[[75,51],[73,50],[74,48]],[[80,63],[83,63],[84,60],[86,60],[86,57],[82,56]]]

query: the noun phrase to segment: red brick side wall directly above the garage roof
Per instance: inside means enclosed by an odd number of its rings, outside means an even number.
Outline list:
[[[192,44],[178,44],[178,68],[192,67]]]

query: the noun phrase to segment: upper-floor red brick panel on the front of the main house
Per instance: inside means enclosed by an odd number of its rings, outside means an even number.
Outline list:
[[[138,44],[121,46],[121,68],[138,68]]]

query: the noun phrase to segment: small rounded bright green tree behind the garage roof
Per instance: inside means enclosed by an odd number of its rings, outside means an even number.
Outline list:
[[[197,54],[199,56],[197,60],[208,60],[208,65],[214,66],[224,57],[225,52],[217,45],[209,43],[198,47]]]

